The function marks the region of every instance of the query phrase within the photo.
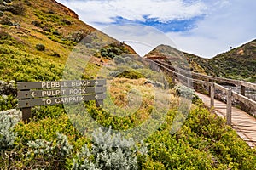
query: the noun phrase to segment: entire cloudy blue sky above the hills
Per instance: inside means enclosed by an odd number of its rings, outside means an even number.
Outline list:
[[[256,38],[255,0],[57,0],[143,56],[159,44],[212,58]]]

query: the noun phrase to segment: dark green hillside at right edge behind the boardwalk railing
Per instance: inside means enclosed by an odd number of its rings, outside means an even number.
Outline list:
[[[226,53],[218,54],[212,59],[203,59],[191,55],[188,55],[188,57],[201,65],[209,75],[248,82],[256,81],[256,40],[247,42],[241,47],[233,48]]]

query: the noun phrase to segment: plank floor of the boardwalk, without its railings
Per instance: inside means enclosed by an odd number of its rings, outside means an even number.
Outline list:
[[[211,98],[204,94],[198,95],[204,104],[207,107],[210,107]],[[227,105],[224,102],[218,101],[214,99],[214,112],[218,116],[222,116],[225,118],[226,116],[226,107]],[[232,115],[231,115],[231,126],[236,133],[243,139],[251,148],[256,146],[256,119],[253,116],[250,116],[245,111],[241,111],[236,107],[232,107]]]

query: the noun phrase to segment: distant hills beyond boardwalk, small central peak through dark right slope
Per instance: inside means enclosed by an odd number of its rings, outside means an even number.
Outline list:
[[[163,48],[165,49],[163,50]],[[169,54],[166,54],[165,51],[168,51]],[[224,54],[218,54],[212,59],[184,53],[166,45],[160,45],[145,55],[148,59],[164,59],[172,65],[175,65],[178,56],[187,60],[191,71],[248,82],[256,81],[256,40],[233,48]]]

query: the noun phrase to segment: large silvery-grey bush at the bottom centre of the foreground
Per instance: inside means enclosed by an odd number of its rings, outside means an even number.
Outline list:
[[[89,150],[84,145],[73,160],[73,169],[137,169],[137,153],[147,154],[146,147],[137,147],[132,139],[125,139],[120,133],[111,134],[110,129],[93,133],[94,143]]]

